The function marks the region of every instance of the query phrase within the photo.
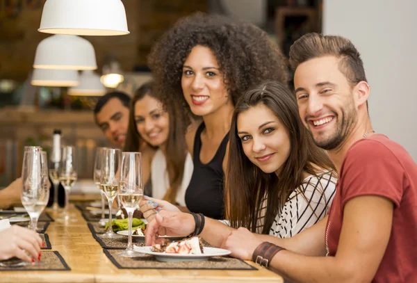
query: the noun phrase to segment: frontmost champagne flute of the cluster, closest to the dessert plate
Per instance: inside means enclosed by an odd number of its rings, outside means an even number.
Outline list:
[[[126,209],[129,219],[129,240],[127,248],[119,255],[122,257],[143,256],[133,250],[132,245],[132,218],[133,212],[138,209],[143,197],[142,160],[140,152],[122,152],[122,168],[120,170],[119,197]]]

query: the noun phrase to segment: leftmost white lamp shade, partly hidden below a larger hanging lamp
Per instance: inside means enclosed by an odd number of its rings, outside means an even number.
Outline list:
[[[33,86],[78,86],[76,70],[33,69]]]

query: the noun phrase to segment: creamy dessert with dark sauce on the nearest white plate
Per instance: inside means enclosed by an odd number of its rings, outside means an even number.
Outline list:
[[[166,254],[203,254],[203,245],[198,236],[184,238],[181,241],[165,241],[152,246],[152,252],[165,252]]]

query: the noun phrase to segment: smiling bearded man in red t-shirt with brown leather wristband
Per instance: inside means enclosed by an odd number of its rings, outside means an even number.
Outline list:
[[[338,171],[329,216],[289,239],[239,228],[223,247],[290,281],[417,282],[417,165],[373,131],[359,52],[345,38],[310,33],[290,61],[300,116]]]

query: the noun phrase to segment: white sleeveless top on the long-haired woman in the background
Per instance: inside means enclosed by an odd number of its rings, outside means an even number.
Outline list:
[[[187,153],[186,163],[184,163],[183,179],[181,186],[178,188],[175,202],[181,207],[186,206],[185,194],[188,184],[190,184],[191,175],[193,174],[193,159],[191,154]],[[167,160],[161,149],[158,149],[151,163],[151,180],[152,180],[152,197],[161,200],[168,188],[170,188],[170,177],[167,172]]]

